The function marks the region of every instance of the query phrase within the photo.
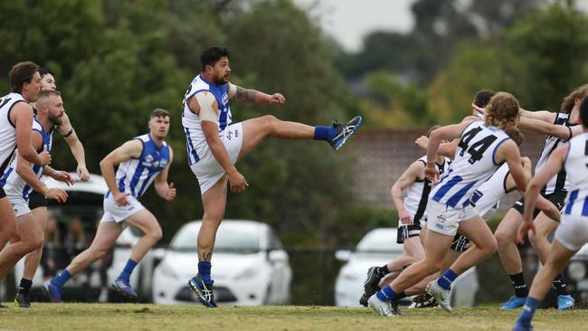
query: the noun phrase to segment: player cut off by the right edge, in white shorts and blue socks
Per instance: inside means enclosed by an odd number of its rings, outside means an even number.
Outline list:
[[[557,147],[545,165],[535,174],[526,190],[524,221],[518,231],[518,242],[524,241],[524,236],[529,230],[531,233],[535,231],[534,210],[541,190],[561,170],[566,170],[570,194],[565,199],[564,213],[555,231],[553,246],[545,264],[533,279],[521,314],[513,328],[515,331],[533,329],[531,320],[553,279],[564,270],[570,258],[588,242],[588,98],[584,98],[581,103],[579,122],[583,126],[583,134]]]

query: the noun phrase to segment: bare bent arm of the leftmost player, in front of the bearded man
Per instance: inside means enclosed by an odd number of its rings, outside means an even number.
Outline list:
[[[18,155],[35,165],[49,165],[51,155],[44,151],[37,154],[31,146],[31,131],[33,128],[33,108],[26,102],[18,102],[10,112],[10,120],[16,128],[16,147]]]

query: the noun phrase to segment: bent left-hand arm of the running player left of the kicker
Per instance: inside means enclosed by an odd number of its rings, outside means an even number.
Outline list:
[[[138,139],[133,139],[122,144],[122,146],[110,152],[108,156],[100,161],[100,172],[102,173],[102,176],[104,176],[104,180],[106,181],[107,186],[109,186],[109,191],[114,195],[114,199],[119,206],[128,204],[127,195],[130,193],[119,191],[114,166],[127,161],[131,157],[141,156],[142,151],[143,143]]]

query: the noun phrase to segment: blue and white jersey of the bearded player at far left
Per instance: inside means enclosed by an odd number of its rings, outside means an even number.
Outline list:
[[[43,137],[43,146],[37,150],[37,153],[42,153],[43,150],[51,151],[52,147],[52,133],[53,130],[51,129],[49,132],[45,132],[43,130],[43,126],[39,123],[37,118],[33,120],[33,131],[37,131]],[[34,135],[34,133],[33,133]],[[24,201],[29,200],[29,195],[33,192],[33,188],[26,184],[19,176],[16,174],[16,165],[18,164],[18,157],[16,157],[16,153],[14,154],[14,158],[10,163],[10,166],[6,168],[4,175],[0,178],[0,184],[2,184],[6,195],[8,196],[21,196]],[[33,173],[37,175],[38,178],[41,178],[43,174],[43,166],[41,165],[33,165]]]

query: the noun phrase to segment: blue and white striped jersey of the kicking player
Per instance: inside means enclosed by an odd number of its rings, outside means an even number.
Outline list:
[[[200,125],[200,117],[198,117],[194,110],[190,109],[188,99],[192,98],[194,94],[203,90],[213,93],[214,99],[218,103],[219,109],[219,137],[224,134],[224,129],[232,122],[231,106],[229,105],[229,84],[214,85],[198,75],[190,83],[190,87],[185,91],[184,95],[184,110],[182,112],[182,125],[184,125],[186,148],[188,150],[188,164],[194,165],[204,155],[210,154],[210,149],[204,137],[204,131]]]

